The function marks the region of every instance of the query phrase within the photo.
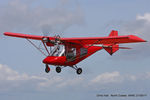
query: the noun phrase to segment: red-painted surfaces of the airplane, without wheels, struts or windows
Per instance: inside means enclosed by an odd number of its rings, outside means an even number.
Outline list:
[[[34,40],[44,41],[43,38],[47,38],[49,41],[55,41],[56,37],[48,37],[48,36],[37,36],[37,35],[28,35],[21,33],[12,33],[5,32],[4,35],[19,37],[19,38],[27,38]],[[76,49],[76,56],[74,59],[70,60],[67,56],[48,56],[43,60],[45,64],[58,65],[58,66],[73,66],[82,60],[86,59],[90,55],[95,52],[105,49],[110,55],[119,50],[119,44],[121,43],[136,43],[136,42],[146,42],[145,40],[135,36],[135,35],[124,35],[118,36],[118,31],[112,31],[107,37],[80,37],[80,38],[59,38],[61,45],[65,46],[65,55],[72,49]],[[93,46],[93,44],[102,44],[103,47]],[[54,46],[52,42],[46,42],[47,46]],[[82,50],[81,50],[82,49]],[[83,52],[86,53],[84,54]],[[81,52],[82,51],[82,52]],[[81,53],[83,53],[81,55]]]

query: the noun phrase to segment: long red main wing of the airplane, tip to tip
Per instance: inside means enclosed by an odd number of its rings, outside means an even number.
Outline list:
[[[111,32],[111,34],[112,33],[113,31]],[[42,40],[45,37],[49,38],[49,40],[55,39],[55,37],[49,37],[49,36],[38,36],[38,35],[29,35],[29,34],[22,34],[22,33],[12,33],[12,32],[5,32],[4,35],[12,36],[12,37],[19,37],[19,38],[34,39],[34,40]],[[81,45],[146,42],[145,40],[135,35],[118,36],[116,34],[109,35],[107,37],[60,38],[60,41],[62,41],[63,43],[75,43],[75,44],[81,44]]]

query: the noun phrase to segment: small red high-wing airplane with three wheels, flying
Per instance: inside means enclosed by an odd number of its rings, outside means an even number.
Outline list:
[[[115,30],[112,30],[107,37],[61,38],[60,36],[49,37],[12,32],[5,32],[4,35],[25,38],[35,46],[46,56],[43,63],[46,65],[45,72],[47,73],[50,71],[48,65],[54,65],[57,73],[60,73],[63,67],[69,66],[74,68],[77,74],[81,74],[82,69],[78,68],[76,64],[99,50],[105,49],[112,55],[119,49],[130,49],[119,47],[119,44],[146,42],[135,35],[118,36],[118,31]],[[45,54],[30,39],[42,41],[48,54]]]

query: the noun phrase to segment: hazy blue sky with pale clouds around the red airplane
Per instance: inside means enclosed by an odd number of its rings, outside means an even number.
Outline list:
[[[25,39],[4,32],[61,37],[101,37],[111,30],[150,41],[149,0],[0,0],[0,98],[3,100],[149,100],[150,44],[105,50],[78,64],[45,73],[45,58]],[[37,45],[39,41],[33,41]],[[101,97],[98,94],[144,94],[143,97]]]

